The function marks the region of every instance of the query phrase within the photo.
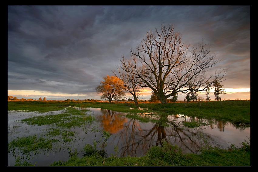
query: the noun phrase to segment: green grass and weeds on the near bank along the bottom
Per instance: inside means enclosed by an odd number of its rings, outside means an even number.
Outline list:
[[[248,143],[248,145],[250,145]],[[200,154],[184,154],[178,146],[163,141],[162,147],[151,147],[142,157],[105,157],[103,151],[96,151],[91,145],[86,145],[84,157],[70,157],[66,162],[57,161],[50,166],[220,166],[243,167],[250,166],[250,147],[228,149],[204,147]]]

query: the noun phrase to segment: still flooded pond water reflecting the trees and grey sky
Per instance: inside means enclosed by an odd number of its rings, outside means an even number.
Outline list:
[[[77,156],[82,157],[83,147],[86,144],[93,145],[102,137],[101,130],[109,131],[112,135],[107,140],[105,150],[108,155],[116,155],[118,148],[118,156],[139,157],[145,155],[146,151],[154,146],[161,146],[162,140],[168,141],[172,145],[178,145],[185,153],[198,154],[200,147],[205,144],[227,148],[231,144],[241,147],[242,142],[250,137],[250,126],[235,126],[230,122],[214,120],[214,119],[197,119],[185,116],[183,114],[153,114],[147,113],[151,118],[157,119],[152,122],[140,122],[133,118],[125,117],[125,113],[115,112],[99,108],[88,108],[87,113],[93,114],[97,119],[96,122],[80,128],[69,129],[76,133],[73,140],[69,143],[53,144],[53,149],[49,152],[41,152],[39,154],[31,154],[23,159],[36,166],[48,166],[54,161],[69,159],[69,152],[77,150]],[[62,111],[53,111],[48,113],[8,111],[8,143],[17,137],[25,137],[29,135],[45,136],[47,131],[51,130],[53,125],[37,126],[21,123],[20,120],[46,114],[58,114]],[[162,119],[162,120],[161,120]],[[164,120],[165,119],[165,120]],[[209,125],[199,128],[188,128],[182,125],[183,121],[212,121]],[[168,125],[163,125],[160,123]],[[208,123],[208,122],[207,122]],[[98,142],[98,145],[101,143]],[[98,147],[98,146],[97,146]],[[7,157],[7,165],[15,164],[15,156],[20,155],[19,152],[10,152]]]

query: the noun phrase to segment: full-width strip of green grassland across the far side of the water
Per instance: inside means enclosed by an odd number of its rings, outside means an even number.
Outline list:
[[[67,106],[81,108],[102,108],[124,113],[141,113],[147,110],[140,110],[131,103],[131,107],[125,103],[100,103],[96,101],[8,101],[8,110],[26,110],[48,112],[64,109]],[[56,106],[61,108],[56,108]],[[251,123],[251,101],[209,101],[186,103],[141,103],[139,108],[151,111],[167,112],[171,114],[185,114],[192,117],[216,118],[233,122],[235,124]]]

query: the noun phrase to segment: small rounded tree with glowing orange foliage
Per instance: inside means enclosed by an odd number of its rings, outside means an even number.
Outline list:
[[[104,81],[100,82],[100,85],[96,87],[96,92],[102,94],[100,98],[107,99],[109,103],[124,96],[124,89],[121,88],[123,81],[115,76],[103,77]]]

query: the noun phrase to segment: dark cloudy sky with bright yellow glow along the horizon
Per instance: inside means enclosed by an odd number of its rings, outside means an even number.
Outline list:
[[[162,24],[173,24],[184,43],[211,45],[221,59],[215,67],[228,68],[222,100],[250,99],[250,5],[7,5],[7,94],[100,99],[102,78]],[[139,99],[150,95],[146,89]]]

